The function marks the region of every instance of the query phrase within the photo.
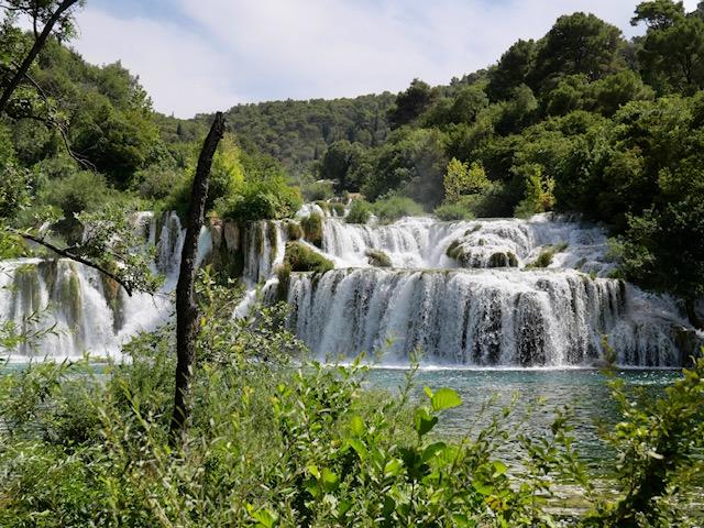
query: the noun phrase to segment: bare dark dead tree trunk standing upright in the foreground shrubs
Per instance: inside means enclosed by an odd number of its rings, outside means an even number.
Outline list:
[[[194,187],[190,194],[190,208],[186,222],[186,238],[180,257],[180,273],[176,286],[176,394],[170,425],[170,442],[176,446],[188,420],[188,391],[195,359],[196,334],[198,332],[198,307],[194,295],[196,280],[196,257],[198,235],[206,212],[206,198],[210,182],[210,167],[218,143],[224,134],[222,112],[216,113],[210,132],[200,151]]]

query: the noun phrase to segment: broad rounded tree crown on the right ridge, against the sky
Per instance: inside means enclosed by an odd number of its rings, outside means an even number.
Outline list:
[[[563,75],[583,74],[596,80],[623,67],[620,30],[593,14],[560,16],[539,44],[534,86]]]

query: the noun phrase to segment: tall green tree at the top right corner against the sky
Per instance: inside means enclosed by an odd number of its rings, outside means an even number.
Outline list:
[[[636,8],[630,23],[641,22],[648,26],[638,50],[646,80],[661,91],[704,87],[704,20],[686,15],[682,2],[652,0]]]

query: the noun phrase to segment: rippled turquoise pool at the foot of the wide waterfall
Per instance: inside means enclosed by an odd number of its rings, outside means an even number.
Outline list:
[[[395,389],[404,383],[404,370],[374,369],[367,385]],[[681,376],[671,370],[617,371],[630,387],[642,387],[647,394],[657,395]],[[493,414],[501,411],[517,397],[516,408],[506,418],[510,430],[532,435],[544,432],[554,417],[554,409],[569,406],[575,427],[574,435],[581,457],[600,468],[613,453],[600,440],[598,424],[615,424],[618,413],[609,397],[607,378],[595,370],[422,370],[414,387],[417,398],[425,398],[422,388],[454,388],[462,397],[462,406],[447,411],[437,426],[440,435],[451,437],[472,436],[486,425]],[[493,398],[493,400],[492,400]],[[531,403],[544,398],[530,416],[526,416]],[[482,407],[488,407],[482,414]],[[508,453],[510,455],[510,453]]]

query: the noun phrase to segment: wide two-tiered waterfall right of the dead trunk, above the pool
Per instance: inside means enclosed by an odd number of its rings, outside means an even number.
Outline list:
[[[374,251],[392,268],[374,268]],[[604,231],[569,218],[327,219],[321,253],[338,270],[295,274],[288,288],[292,328],[320,356],[381,350],[407,364],[419,350],[432,364],[588,366],[607,336],[623,365],[675,366],[693,352],[682,336],[702,339],[673,299],[608,278]]]

